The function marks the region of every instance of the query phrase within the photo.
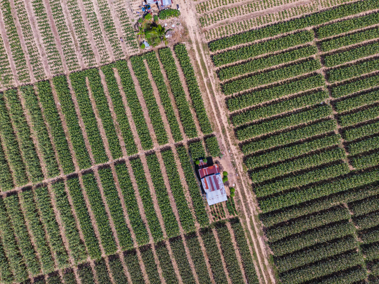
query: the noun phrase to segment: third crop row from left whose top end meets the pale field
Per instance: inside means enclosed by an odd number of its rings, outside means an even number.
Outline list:
[[[49,126],[52,140],[58,154],[58,161],[63,168],[63,173],[68,174],[74,171],[74,163],[70,153],[69,145],[64,134],[62,122],[56,109],[54,97],[49,81],[37,82],[38,97],[43,107],[43,114],[45,116],[47,125]],[[34,98],[33,95],[30,99]],[[31,100],[31,105],[35,104],[35,100]],[[42,134],[42,133],[41,133]]]

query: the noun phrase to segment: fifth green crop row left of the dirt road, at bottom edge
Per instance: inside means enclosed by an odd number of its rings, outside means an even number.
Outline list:
[[[182,238],[179,236],[171,239],[170,246],[179,268],[180,277],[183,279],[183,283],[195,284],[196,281],[192,274],[191,267],[189,266]]]

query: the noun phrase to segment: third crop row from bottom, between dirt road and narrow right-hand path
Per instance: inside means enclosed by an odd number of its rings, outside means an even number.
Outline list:
[[[304,251],[297,251],[293,254],[276,257],[275,265],[280,273],[305,264],[319,261],[321,259],[335,256],[344,251],[352,250],[357,247],[357,242],[352,235],[334,239],[325,243],[320,243]]]

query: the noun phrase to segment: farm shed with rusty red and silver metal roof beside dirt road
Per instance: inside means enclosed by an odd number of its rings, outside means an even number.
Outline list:
[[[207,196],[208,205],[211,206],[226,201],[227,196],[219,166],[216,164],[207,166],[203,160],[200,160],[198,172],[205,195]]]

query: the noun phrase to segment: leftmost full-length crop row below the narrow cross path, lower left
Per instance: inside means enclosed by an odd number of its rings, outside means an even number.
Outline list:
[[[13,194],[6,196],[4,198],[4,204],[27,270],[30,275],[37,276],[41,272],[41,265],[39,264],[36,251],[31,243],[30,235],[25,225],[18,195]]]

